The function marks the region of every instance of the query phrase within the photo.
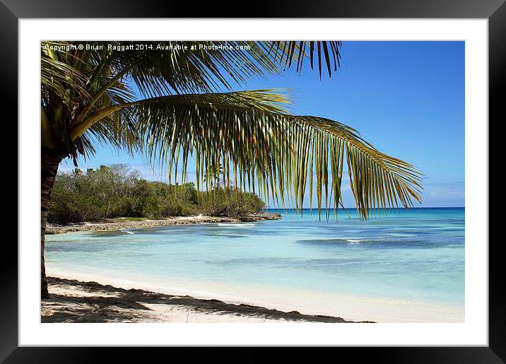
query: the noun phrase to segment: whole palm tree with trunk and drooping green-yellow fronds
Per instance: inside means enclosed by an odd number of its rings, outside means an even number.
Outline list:
[[[313,184],[319,211],[342,206],[345,160],[363,218],[370,209],[420,201],[420,172],[378,151],[355,129],[291,115],[285,90],[232,91],[291,66],[300,72],[309,64],[320,78],[331,76],[340,48],[341,42],[324,41],[42,42],[42,296],[54,177],[61,160],[71,158],[77,167],[78,154],[86,158],[96,144],[143,153],[151,163],[167,165],[169,177],[175,166],[176,180],[180,163],[182,183],[193,155],[197,189],[210,166],[223,165],[227,184],[257,189],[283,206],[288,196],[301,207],[306,189],[311,204]]]

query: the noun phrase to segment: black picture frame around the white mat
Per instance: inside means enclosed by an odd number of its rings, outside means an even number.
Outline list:
[[[220,1],[223,8],[228,6]],[[236,4],[237,5],[237,4]],[[0,75],[1,103],[13,111],[11,120],[17,120],[18,105],[18,19],[20,18],[223,18],[223,8],[215,2],[160,1],[160,0],[0,0]],[[242,13],[252,18],[488,18],[489,30],[489,166],[498,165],[504,155],[500,151],[500,133],[490,133],[490,127],[503,122],[502,104],[506,78],[506,4],[505,0],[341,0],[302,1],[283,0],[276,3],[255,1],[254,6]],[[64,33],[62,33],[64,37]],[[4,117],[6,117],[4,115]],[[484,121],[486,122],[486,120]],[[17,124],[9,122],[3,126],[3,135],[17,136]],[[16,138],[9,138],[16,143]],[[2,143],[4,155],[12,155],[16,146]],[[8,153],[8,154],[6,154]],[[17,158],[4,158],[4,170],[16,171]],[[492,168],[489,169],[492,172]],[[502,179],[490,178],[489,194],[498,192]],[[8,181],[1,181],[4,191],[18,189],[17,173],[10,173]],[[13,197],[14,198],[14,197]],[[500,206],[502,201],[495,201]],[[16,205],[15,205],[16,204]],[[7,205],[8,206],[8,205]],[[490,206],[490,204],[489,204]],[[17,201],[12,202],[10,211],[17,211]],[[488,347],[410,347],[410,348],[337,348],[350,353],[353,358],[374,358],[381,363],[504,363],[506,360],[506,319],[504,299],[503,257],[500,254],[501,240],[493,240],[491,233],[500,226],[499,213],[489,207],[489,346]],[[20,216],[20,218],[23,218]],[[486,242],[475,242],[486,243]],[[8,246],[5,246],[8,245]],[[38,245],[34,245],[37,249]],[[17,247],[4,241],[0,254],[0,362],[5,363],[90,363],[106,358],[112,352],[114,361],[130,361],[137,355],[155,358],[159,351],[177,351],[176,348],[57,348],[18,347],[18,252]],[[229,349],[230,350],[230,349]],[[248,356],[254,360],[257,353],[252,348]],[[139,353],[139,351],[143,353]],[[296,351],[295,351],[296,353]],[[325,351],[324,351],[325,353]],[[172,353],[177,354],[177,353]],[[228,352],[227,355],[230,355]],[[232,352],[233,355],[233,352]],[[147,357],[145,357],[147,358]],[[258,357],[259,359],[261,357]]]

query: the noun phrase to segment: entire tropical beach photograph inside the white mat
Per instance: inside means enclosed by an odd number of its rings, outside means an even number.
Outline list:
[[[466,322],[465,65],[41,40],[40,322]]]

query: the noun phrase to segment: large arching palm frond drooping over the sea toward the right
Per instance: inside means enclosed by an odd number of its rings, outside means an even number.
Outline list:
[[[193,155],[198,187],[211,183],[207,170],[223,165],[227,174],[234,172],[236,184],[283,205],[292,195],[301,208],[314,184],[321,213],[322,207],[341,204],[346,163],[363,218],[371,209],[410,207],[421,200],[422,175],[412,165],[378,151],[345,124],[283,113],[280,104],[287,101],[274,90],[171,95],[106,108],[107,115],[102,110],[88,121],[95,125],[102,117],[129,110],[137,120],[131,124],[136,137],[146,141],[141,151],[167,165],[171,177],[174,166],[182,166],[182,183]]]

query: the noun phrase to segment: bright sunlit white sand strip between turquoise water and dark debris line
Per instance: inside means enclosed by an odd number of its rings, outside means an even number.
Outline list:
[[[243,287],[212,282],[172,279],[170,282],[139,281],[135,277],[103,276],[103,274],[75,274],[68,269],[49,269],[48,276],[64,277],[71,281],[93,281],[99,286],[121,287],[124,290],[143,290],[163,295],[191,296],[195,300],[211,300],[231,304],[267,307],[282,312],[301,312],[308,316],[341,317],[350,322],[423,323],[464,322],[464,306],[425,303],[395,298],[374,298],[358,295],[320,293],[310,290]],[[97,283],[98,282],[98,283]],[[72,292],[72,291],[71,291]],[[68,308],[67,308],[68,310]],[[216,313],[216,312],[215,312]],[[204,319],[201,317],[201,320]],[[225,318],[206,322],[230,322]],[[199,322],[202,322],[202,321]],[[180,321],[177,321],[180,322]],[[235,321],[237,322],[237,319]],[[244,321],[241,321],[244,322]],[[248,320],[247,322],[251,322]],[[264,322],[264,321],[260,321]]]

